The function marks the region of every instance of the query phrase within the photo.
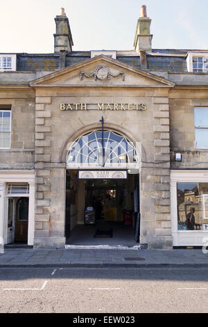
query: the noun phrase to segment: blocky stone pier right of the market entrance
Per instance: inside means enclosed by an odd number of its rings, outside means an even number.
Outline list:
[[[172,248],[168,97],[155,97],[155,163],[141,169],[141,243]]]

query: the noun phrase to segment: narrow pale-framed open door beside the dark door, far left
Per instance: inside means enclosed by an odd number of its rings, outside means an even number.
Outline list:
[[[14,237],[15,237],[15,199],[8,198],[6,244],[12,243],[14,241]]]

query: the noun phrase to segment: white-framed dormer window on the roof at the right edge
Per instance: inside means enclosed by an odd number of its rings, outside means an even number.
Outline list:
[[[208,73],[208,54],[202,52],[189,52],[187,56],[188,72]]]

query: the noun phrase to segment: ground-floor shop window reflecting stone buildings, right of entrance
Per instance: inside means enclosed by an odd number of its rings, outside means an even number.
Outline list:
[[[208,231],[208,183],[177,183],[177,230]]]

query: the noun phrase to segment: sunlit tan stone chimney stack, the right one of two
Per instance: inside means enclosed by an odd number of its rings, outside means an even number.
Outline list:
[[[139,19],[137,22],[137,30],[135,34],[135,50],[152,51],[153,35],[150,34],[150,24],[152,20],[147,17],[146,6],[141,6]]]

